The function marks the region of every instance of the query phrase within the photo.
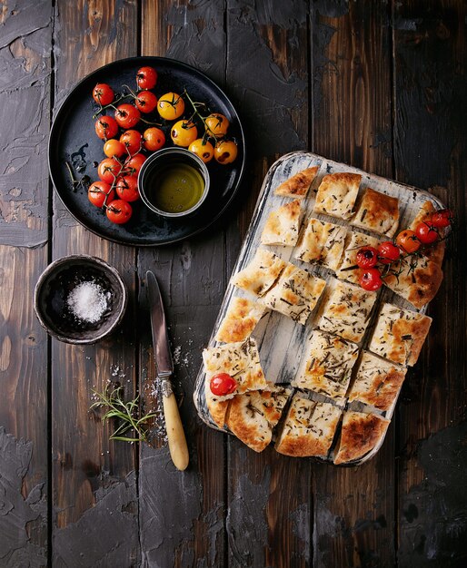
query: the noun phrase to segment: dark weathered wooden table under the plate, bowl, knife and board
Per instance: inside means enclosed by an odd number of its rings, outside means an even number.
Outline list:
[[[5,0],[0,14],[0,565],[465,566],[467,10],[462,0]],[[101,240],[48,178],[57,105],[86,73],[167,55],[207,73],[246,126],[234,206],[164,248]],[[378,455],[353,468],[255,455],[192,402],[263,176],[285,152],[432,191],[458,225],[422,357]],[[94,347],[51,340],[33,290],[51,260],[89,253],[130,290],[121,331]],[[154,269],[176,357],[191,465],[108,441],[89,410],[109,379],[149,404],[154,379],[140,282]]]

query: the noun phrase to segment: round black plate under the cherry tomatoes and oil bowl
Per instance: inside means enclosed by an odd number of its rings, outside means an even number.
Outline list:
[[[143,201],[136,201],[132,219],[124,225],[115,225],[107,220],[104,211],[94,207],[88,199],[85,188],[75,191],[66,162],[75,171],[75,179],[84,175],[92,181],[98,179],[94,162],[104,159],[103,142],[94,132],[96,106],[92,98],[95,83],[109,83],[115,93],[123,91],[123,85],[135,86],[135,75],[143,65],[153,66],[158,73],[154,93],[159,97],[164,93],[183,93],[184,89],[192,100],[207,105],[210,112],[223,113],[231,125],[229,137],[238,144],[238,156],[234,163],[220,165],[214,160],[208,165],[211,176],[211,189],[202,207],[193,215],[182,220],[167,220],[149,211]],[[191,112],[186,102],[185,116]],[[110,112],[109,112],[110,114]],[[157,114],[157,113],[156,113]],[[151,115],[149,115],[151,116]],[[154,119],[157,120],[157,119]],[[158,122],[161,122],[160,119]],[[166,146],[170,141],[170,123],[163,130]],[[139,125],[138,130],[148,128]],[[65,207],[89,230],[104,239],[135,246],[164,245],[175,240],[186,239],[212,224],[233,200],[243,176],[245,152],[243,128],[233,104],[223,91],[193,67],[164,57],[134,57],[104,65],[89,74],[68,94],[65,102],[56,113],[49,140],[49,170],[55,190]]]

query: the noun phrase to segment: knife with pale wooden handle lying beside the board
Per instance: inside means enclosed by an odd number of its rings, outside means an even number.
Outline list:
[[[178,411],[177,401],[175,400],[170,380],[174,373],[174,363],[170,354],[164,304],[159,285],[151,270],[146,272],[146,282],[147,299],[151,310],[154,359],[155,366],[157,367],[157,378],[161,381],[169,451],[175,467],[183,471],[188,465],[188,447],[186,446],[184,426],[182,425],[180,412]]]

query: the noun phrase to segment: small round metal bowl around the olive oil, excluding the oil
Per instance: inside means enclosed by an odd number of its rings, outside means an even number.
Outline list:
[[[165,175],[166,171],[170,171],[171,167],[180,167],[181,164],[189,165],[194,168],[202,177],[204,181],[204,189],[199,200],[197,200],[192,207],[189,207],[183,211],[164,211],[157,206],[154,201],[153,192],[155,190],[154,183],[158,179],[158,174],[161,176]],[[163,173],[164,172],[164,173]],[[182,180],[182,182],[185,182]],[[141,170],[138,174],[138,189],[140,192],[141,200],[144,205],[148,207],[154,213],[161,215],[162,217],[185,217],[186,215],[191,215],[199,207],[207,197],[209,192],[209,171],[206,168],[206,164],[199,158],[194,152],[186,150],[186,148],[163,148],[158,152],[154,152],[147,160],[143,163]]]

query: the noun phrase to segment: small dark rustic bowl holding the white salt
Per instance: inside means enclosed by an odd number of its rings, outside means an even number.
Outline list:
[[[70,305],[70,294],[84,283],[93,283],[100,311],[91,316]],[[35,285],[35,314],[45,331],[65,343],[93,344],[110,335],[120,324],[128,301],[124,280],[104,260],[73,255],[55,260]],[[85,307],[84,307],[85,308]],[[99,315],[97,320],[96,315]]]

